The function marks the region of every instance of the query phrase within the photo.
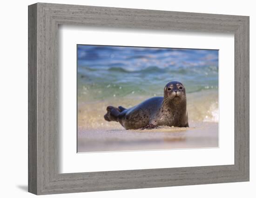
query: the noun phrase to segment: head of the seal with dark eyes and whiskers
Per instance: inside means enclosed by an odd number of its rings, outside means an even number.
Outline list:
[[[164,100],[173,103],[186,102],[186,89],[182,83],[172,81],[164,87]]]

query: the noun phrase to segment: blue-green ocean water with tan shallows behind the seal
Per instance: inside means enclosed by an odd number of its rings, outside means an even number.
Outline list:
[[[218,122],[218,50],[77,45],[78,126],[109,126],[108,105],[163,96],[170,81],[186,87],[190,120]]]

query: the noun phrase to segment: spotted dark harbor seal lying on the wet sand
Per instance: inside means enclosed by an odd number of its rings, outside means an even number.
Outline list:
[[[180,82],[169,82],[164,87],[163,97],[149,98],[129,109],[108,106],[104,118],[119,122],[125,129],[189,127],[186,89]]]

